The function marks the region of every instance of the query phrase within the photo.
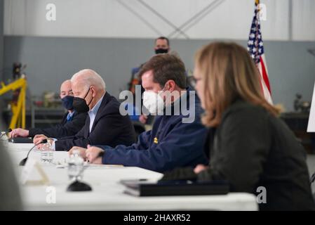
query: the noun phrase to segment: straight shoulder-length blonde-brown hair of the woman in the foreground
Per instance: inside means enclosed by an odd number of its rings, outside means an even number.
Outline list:
[[[242,46],[215,42],[196,53],[195,66],[203,79],[204,107],[202,118],[207,127],[220,124],[222,113],[236,98],[260,105],[272,115],[279,109],[269,104],[262,94],[260,73]]]

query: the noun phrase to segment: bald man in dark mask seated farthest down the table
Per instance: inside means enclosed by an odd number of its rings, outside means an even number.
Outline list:
[[[67,79],[60,86],[60,98],[62,106],[67,109],[67,113],[62,118],[62,122],[54,127],[45,129],[31,128],[31,129],[13,129],[11,137],[34,137],[38,134],[50,136],[53,138],[61,138],[62,136],[73,136],[78,133],[86,122],[87,113],[78,113],[73,109],[73,92],[71,81]]]

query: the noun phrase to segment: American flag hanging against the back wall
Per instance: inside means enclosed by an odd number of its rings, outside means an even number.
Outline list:
[[[262,42],[262,32],[260,31],[260,1],[255,0],[255,13],[253,23],[250,27],[248,39],[248,52],[255,60],[258,70],[260,71],[260,86],[264,93],[264,98],[272,104],[272,90],[268,78],[266,59],[264,58],[264,43]]]

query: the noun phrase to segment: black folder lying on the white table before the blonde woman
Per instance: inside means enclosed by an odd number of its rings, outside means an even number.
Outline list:
[[[227,181],[157,181],[122,180],[124,193],[135,196],[170,195],[225,195],[229,193]]]

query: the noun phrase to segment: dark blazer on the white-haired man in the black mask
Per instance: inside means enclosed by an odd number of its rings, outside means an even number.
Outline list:
[[[86,148],[88,144],[115,147],[119,144],[135,143],[133,124],[128,115],[119,113],[119,106],[116,98],[106,92],[96,113],[91,133],[90,117],[87,117],[79,133],[55,141],[55,150],[69,150],[73,146]]]

